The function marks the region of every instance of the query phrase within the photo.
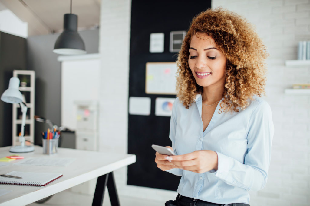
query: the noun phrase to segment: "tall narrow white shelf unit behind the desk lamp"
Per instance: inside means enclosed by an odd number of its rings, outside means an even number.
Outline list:
[[[23,95],[23,102],[28,110],[26,114],[26,124],[24,137],[26,140],[34,142],[34,93],[35,93],[35,72],[33,70],[13,70],[13,77],[20,79],[19,90]],[[12,145],[20,145],[19,133],[21,131],[22,112],[19,104],[12,104]],[[25,142],[25,145],[30,144]]]

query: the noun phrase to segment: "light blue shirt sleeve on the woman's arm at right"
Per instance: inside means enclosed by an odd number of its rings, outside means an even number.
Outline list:
[[[244,164],[217,152],[218,170],[213,174],[229,185],[246,190],[262,189],[268,178],[273,134],[271,109],[263,101],[249,120]]]

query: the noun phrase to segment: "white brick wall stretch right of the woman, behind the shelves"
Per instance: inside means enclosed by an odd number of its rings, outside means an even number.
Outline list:
[[[285,66],[285,60],[297,58],[298,41],[310,40],[310,2],[257,2],[212,1],[212,7],[235,11],[255,24],[270,53],[265,99],[275,125],[272,160],[268,183],[261,191],[250,191],[250,204],[310,205],[310,95],[284,94],[294,83],[310,83],[309,66]],[[258,7],[253,10],[253,5]]]

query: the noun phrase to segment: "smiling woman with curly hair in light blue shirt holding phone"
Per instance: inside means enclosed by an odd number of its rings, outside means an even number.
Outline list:
[[[241,16],[208,9],[193,19],[178,57],[170,120],[175,156],[161,170],[182,176],[166,205],[248,205],[266,185],[274,133],[264,93],[266,47]]]

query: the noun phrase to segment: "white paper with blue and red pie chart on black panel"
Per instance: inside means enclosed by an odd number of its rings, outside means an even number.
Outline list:
[[[172,104],[175,98],[156,98],[155,99],[155,116],[171,116]]]

